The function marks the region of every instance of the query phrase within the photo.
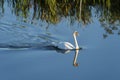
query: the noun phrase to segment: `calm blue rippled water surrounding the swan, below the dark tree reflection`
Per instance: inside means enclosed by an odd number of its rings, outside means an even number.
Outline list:
[[[77,20],[71,23],[71,17],[67,16],[53,24],[32,19],[33,7],[26,18],[12,12],[9,1],[1,1],[4,3],[0,9],[0,80],[120,80],[119,19],[114,24],[107,20],[102,23],[92,7],[90,23]],[[78,55],[74,50],[43,49],[51,42],[74,44],[74,31],[79,32],[77,40],[83,48]],[[23,43],[37,48],[9,47],[26,47]],[[78,66],[73,65],[75,56]]]

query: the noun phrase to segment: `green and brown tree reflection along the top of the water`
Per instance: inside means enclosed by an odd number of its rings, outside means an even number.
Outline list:
[[[4,13],[4,1],[0,0],[0,15]],[[57,24],[63,17],[70,17],[71,24],[75,21],[87,25],[92,22],[92,9],[99,18],[106,33],[120,34],[120,1],[119,0],[7,0],[12,13],[23,17],[24,21],[40,19],[47,23]]]

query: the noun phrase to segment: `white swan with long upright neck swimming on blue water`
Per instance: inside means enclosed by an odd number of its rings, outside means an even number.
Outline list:
[[[79,35],[79,34],[78,34],[77,31],[75,31],[75,32],[73,33],[73,38],[74,38],[74,41],[75,41],[75,46],[72,45],[72,44],[69,43],[69,42],[59,42],[59,43],[57,44],[57,47],[58,47],[59,49],[64,49],[64,50],[72,50],[72,49],[79,50],[80,48],[79,48],[79,46],[78,46],[78,42],[77,42],[77,38],[76,38],[76,36],[78,36],[78,35]]]

